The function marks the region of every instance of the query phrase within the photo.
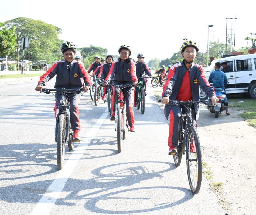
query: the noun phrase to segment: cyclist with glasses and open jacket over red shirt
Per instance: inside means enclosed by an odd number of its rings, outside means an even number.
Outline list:
[[[213,105],[216,106],[218,98],[215,96],[214,88],[210,86],[202,66],[194,63],[194,59],[198,53],[196,43],[193,41],[183,42],[181,48],[183,61],[174,64],[168,73],[167,81],[163,87],[162,103],[165,103],[165,117],[168,119],[170,114],[169,124],[169,155],[177,153],[179,139],[179,118],[182,112],[186,112],[186,108],[182,105],[172,106],[169,104],[169,99],[180,101],[199,101],[200,89],[207,93]],[[199,117],[199,105],[193,105],[194,111],[193,119],[197,120]],[[195,147],[191,144],[190,152],[195,152]]]

